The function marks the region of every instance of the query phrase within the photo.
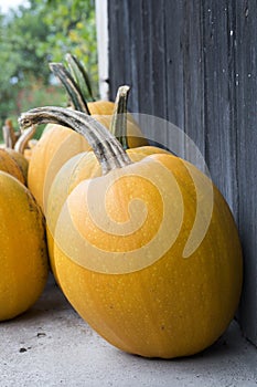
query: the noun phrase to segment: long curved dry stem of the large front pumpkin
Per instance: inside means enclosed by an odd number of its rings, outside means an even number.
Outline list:
[[[19,118],[21,128],[39,124],[58,124],[82,134],[92,146],[103,174],[115,168],[122,168],[132,161],[122,149],[120,143],[94,117],[83,112],[64,107],[44,106],[23,113]]]

